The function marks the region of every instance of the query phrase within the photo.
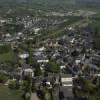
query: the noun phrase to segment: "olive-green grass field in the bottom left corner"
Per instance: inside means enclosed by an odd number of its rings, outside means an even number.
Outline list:
[[[0,100],[23,100],[21,91],[10,90],[8,87],[0,85]]]

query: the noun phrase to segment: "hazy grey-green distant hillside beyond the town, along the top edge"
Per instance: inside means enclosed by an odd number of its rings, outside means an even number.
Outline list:
[[[0,0],[0,7],[30,6],[39,9],[48,8],[100,8],[100,0]]]

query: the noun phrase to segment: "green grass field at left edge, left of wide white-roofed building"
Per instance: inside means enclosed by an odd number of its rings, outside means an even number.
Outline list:
[[[0,54],[0,62],[15,61],[15,55],[12,51]]]

